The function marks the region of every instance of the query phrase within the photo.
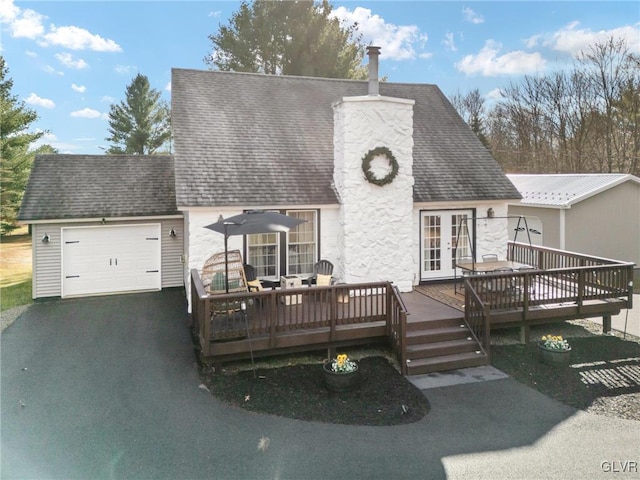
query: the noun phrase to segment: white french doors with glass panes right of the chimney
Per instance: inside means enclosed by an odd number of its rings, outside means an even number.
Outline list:
[[[473,211],[442,210],[420,216],[420,279],[452,278],[456,258],[470,257]],[[456,250],[457,247],[457,250]]]

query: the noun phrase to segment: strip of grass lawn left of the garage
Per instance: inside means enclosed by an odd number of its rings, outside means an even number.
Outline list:
[[[0,248],[0,310],[31,300],[31,236],[26,227],[2,237]]]

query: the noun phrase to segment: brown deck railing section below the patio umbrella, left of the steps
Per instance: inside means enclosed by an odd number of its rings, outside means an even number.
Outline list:
[[[193,331],[205,357],[216,355],[216,342],[250,338],[254,347],[275,352],[286,343],[283,338],[296,333],[331,344],[349,337],[345,332],[351,327],[376,325],[376,332],[384,332],[401,353],[394,342],[404,337],[406,328],[406,309],[388,282],[210,295],[194,269],[191,308]],[[318,335],[311,339],[314,332]]]

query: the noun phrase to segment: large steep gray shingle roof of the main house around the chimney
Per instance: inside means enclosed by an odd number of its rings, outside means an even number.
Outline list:
[[[173,69],[178,205],[335,204],[332,103],[367,82]],[[415,100],[414,201],[520,194],[435,85],[381,83]]]

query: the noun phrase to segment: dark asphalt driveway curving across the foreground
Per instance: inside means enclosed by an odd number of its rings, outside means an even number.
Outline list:
[[[426,390],[431,412],[395,427],[224,405],[199,388],[185,312],[180,290],[31,306],[1,336],[1,477],[611,478],[611,462],[638,476],[640,422],[511,379]]]

